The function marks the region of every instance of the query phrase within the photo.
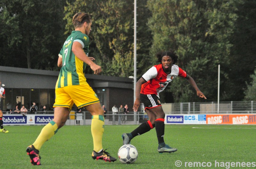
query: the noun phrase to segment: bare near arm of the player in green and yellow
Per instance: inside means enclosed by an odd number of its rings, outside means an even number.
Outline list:
[[[100,74],[102,72],[101,67],[96,65],[91,58],[88,57],[83,50],[82,45],[79,42],[74,42],[72,46],[72,52],[76,55],[76,57],[82,60],[84,63],[89,65],[91,69],[94,71],[94,74]]]

